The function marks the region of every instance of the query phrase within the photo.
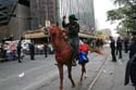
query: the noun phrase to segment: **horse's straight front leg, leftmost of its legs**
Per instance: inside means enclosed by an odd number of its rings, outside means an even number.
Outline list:
[[[63,64],[58,64],[59,73],[60,73],[60,89],[63,90]]]

